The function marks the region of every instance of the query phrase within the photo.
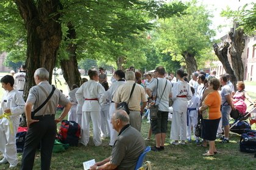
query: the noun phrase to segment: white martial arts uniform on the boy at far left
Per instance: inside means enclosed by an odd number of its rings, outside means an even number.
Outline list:
[[[15,137],[20,123],[20,115],[24,113],[24,106],[25,102],[18,90],[5,91],[1,101],[0,116],[4,115],[4,110],[10,108],[12,115],[9,118],[12,122],[12,131],[9,119],[0,119],[0,152],[13,165],[18,161]]]

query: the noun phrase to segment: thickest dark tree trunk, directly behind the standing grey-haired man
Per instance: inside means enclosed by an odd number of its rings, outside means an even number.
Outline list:
[[[59,0],[14,0],[27,30],[27,75],[24,96],[35,85],[34,72],[44,67],[49,71],[49,83],[55,65],[57,51],[62,40],[62,29],[58,22],[60,15],[55,14],[60,7]]]

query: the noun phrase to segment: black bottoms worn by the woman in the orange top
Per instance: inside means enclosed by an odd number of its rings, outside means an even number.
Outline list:
[[[202,119],[202,138],[204,140],[215,141],[219,127],[219,119]]]

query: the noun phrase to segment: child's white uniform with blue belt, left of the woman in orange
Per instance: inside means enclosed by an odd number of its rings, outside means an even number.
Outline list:
[[[196,130],[198,110],[199,110],[200,99],[196,94],[193,94],[191,100],[188,102],[188,108],[196,108],[196,110],[190,110],[188,116],[188,126],[187,126],[187,138],[191,139],[191,126],[193,127],[193,132]],[[194,136],[196,140],[199,140],[199,137]]]

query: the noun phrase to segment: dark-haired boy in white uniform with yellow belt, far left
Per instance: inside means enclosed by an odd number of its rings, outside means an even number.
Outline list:
[[[18,164],[15,136],[20,123],[20,115],[24,112],[25,102],[18,90],[13,89],[12,76],[2,77],[0,82],[5,90],[0,109],[0,151],[4,156],[0,164],[9,162],[9,168],[14,168]]]

